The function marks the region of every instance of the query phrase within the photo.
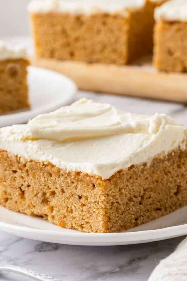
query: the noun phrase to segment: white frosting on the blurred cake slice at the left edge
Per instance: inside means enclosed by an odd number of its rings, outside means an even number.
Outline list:
[[[26,56],[26,49],[23,47],[11,47],[0,41],[0,60],[19,59]]]

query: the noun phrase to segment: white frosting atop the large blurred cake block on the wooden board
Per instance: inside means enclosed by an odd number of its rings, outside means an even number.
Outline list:
[[[152,0],[160,2],[161,0]],[[32,0],[28,5],[28,11],[33,12],[67,12],[72,14],[90,14],[94,12],[107,13],[126,13],[126,8],[140,8],[145,4],[146,0]]]

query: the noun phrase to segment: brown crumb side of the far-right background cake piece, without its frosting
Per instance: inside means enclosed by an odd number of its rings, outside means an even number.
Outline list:
[[[154,42],[153,60],[158,70],[187,71],[187,22],[158,20]]]

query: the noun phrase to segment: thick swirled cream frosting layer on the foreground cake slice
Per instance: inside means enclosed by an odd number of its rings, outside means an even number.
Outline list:
[[[102,179],[185,146],[185,128],[170,116],[126,113],[86,99],[0,129],[3,150]]]

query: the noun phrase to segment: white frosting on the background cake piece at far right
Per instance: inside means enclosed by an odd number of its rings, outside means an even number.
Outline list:
[[[155,19],[187,21],[187,1],[170,0],[155,10]]]

